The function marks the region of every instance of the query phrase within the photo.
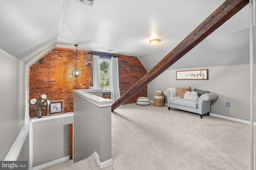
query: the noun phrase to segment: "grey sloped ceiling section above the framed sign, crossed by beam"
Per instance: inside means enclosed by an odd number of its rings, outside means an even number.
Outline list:
[[[218,29],[216,31],[218,31]],[[249,28],[214,38],[207,38],[188,51],[188,53],[168,69],[249,64],[249,38]],[[145,69],[150,71],[159,61],[170,53],[171,50],[172,48],[142,55],[139,56],[138,59],[144,65]]]

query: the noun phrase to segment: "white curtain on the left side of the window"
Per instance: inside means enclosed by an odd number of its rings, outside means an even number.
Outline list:
[[[100,89],[100,57],[92,55],[93,87]]]

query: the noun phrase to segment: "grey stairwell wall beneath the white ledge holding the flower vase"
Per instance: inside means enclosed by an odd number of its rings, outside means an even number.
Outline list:
[[[73,123],[73,117],[62,119],[69,119],[69,123]],[[33,167],[69,158],[70,126],[62,125],[62,119],[33,122]]]

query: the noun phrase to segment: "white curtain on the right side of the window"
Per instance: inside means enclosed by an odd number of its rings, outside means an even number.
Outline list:
[[[119,76],[118,76],[118,59],[117,57],[111,57],[110,64],[110,91],[111,97],[114,102],[120,98],[119,89]]]

